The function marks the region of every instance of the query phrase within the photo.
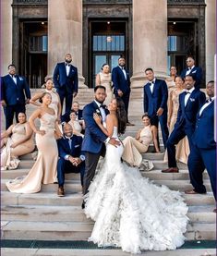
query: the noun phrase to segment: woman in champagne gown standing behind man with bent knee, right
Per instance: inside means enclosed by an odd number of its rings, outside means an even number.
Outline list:
[[[171,133],[175,127],[175,122],[177,119],[177,112],[178,112],[178,98],[179,94],[183,92],[183,89],[185,88],[184,80],[181,77],[175,78],[175,89],[170,92],[169,94],[169,104],[168,104],[168,127],[169,132]],[[187,140],[187,136],[180,140],[179,143],[176,145],[176,160],[179,162],[182,162],[184,164],[187,164],[187,158],[189,155],[189,144]],[[164,155],[164,161],[168,161],[167,152],[165,152]]]

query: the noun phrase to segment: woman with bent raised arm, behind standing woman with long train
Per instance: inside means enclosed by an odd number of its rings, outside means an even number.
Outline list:
[[[57,92],[54,91],[54,83],[52,79],[47,79],[45,83],[45,91],[49,92],[52,96],[52,103],[50,104],[50,107],[54,108],[54,112],[56,115],[56,119],[58,123],[60,123],[60,115],[61,115],[61,103],[59,99],[59,95]],[[37,106],[42,106],[42,103],[39,102],[39,100],[42,98],[42,92],[36,93],[31,99],[30,104],[34,104]]]

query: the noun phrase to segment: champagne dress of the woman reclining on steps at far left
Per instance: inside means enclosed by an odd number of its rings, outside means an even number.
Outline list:
[[[2,169],[16,169],[18,168],[18,156],[32,152],[34,150],[33,133],[29,140],[22,142],[15,148],[11,145],[18,140],[22,140],[26,136],[26,123],[17,124],[12,128],[11,137],[6,139],[6,146],[1,150],[1,168]]]

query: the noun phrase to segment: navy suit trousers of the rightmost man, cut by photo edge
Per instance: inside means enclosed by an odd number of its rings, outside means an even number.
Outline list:
[[[193,145],[189,154],[187,166],[189,169],[190,182],[195,191],[205,193],[206,188],[203,185],[203,172],[207,169],[211,179],[211,189],[216,200],[216,150],[199,149]]]

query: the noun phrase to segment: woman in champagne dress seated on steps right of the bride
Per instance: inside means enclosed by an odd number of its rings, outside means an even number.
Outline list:
[[[142,160],[141,153],[148,151],[152,141],[155,151],[160,152],[157,140],[158,131],[155,126],[151,126],[150,116],[148,116],[148,114],[144,114],[141,119],[144,128],[139,129],[136,139],[127,136],[127,138],[123,140],[124,152],[122,159],[131,166],[138,166],[139,168],[149,171],[153,167],[153,164],[150,161]]]

